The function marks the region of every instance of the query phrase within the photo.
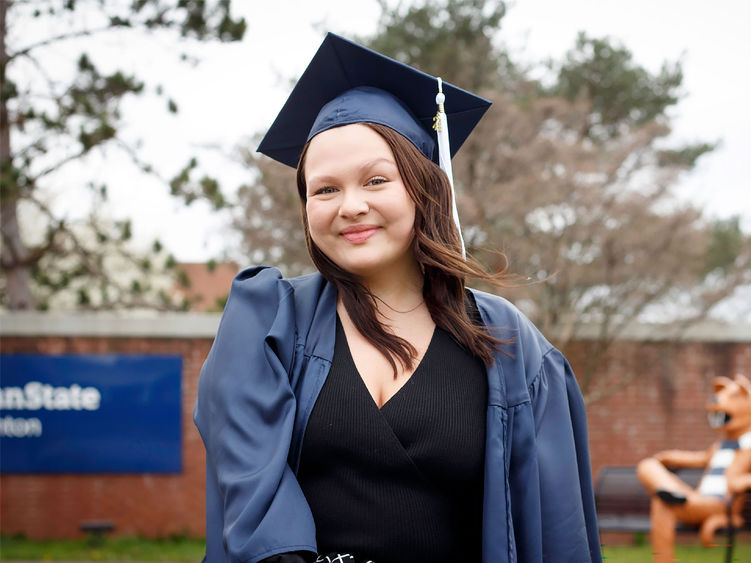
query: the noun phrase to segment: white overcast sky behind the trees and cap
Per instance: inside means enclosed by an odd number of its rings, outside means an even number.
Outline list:
[[[373,0],[234,4],[248,21],[245,40],[193,49],[201,58],[193,68],[177,64],[178,50],[163,39],[128,43],[125,50],[117,37],[104,40],[101,53],[117,53],[113,64],[131,65],[147,82],[163,84],[178,102],[177,116],[164,115],[163,101],[126,106],[128,135],[143,141],[145,154],[165,175],[176,172],[189,153],[209,146],[217,150],[201,164],[227,186],[241,183],[245,171],[223,154],[271,124],[291,87],[288,79],[304,70],[325,30],[369,34],[379,13]],[[560,59],[580,30],[621,41],[653,72],[665,60],[683,61],[683,98],[671,113],[670,140],[719,141],[720,146],[702,157],[678,191],[711,216],[743,214],[751,231],[750,21],[746,0],[516,0],[499,39],[517,60],[527,62]],[[135,186],[131,177],[117,173],[113,178],[118,170],[113,153],[88,166],[109,182],[115,213],[134,214],[136,232],[160,237],[179,260],[205,260],[225,246],[226,216],[211,216],[200,205],[184,210],[156,184]]]

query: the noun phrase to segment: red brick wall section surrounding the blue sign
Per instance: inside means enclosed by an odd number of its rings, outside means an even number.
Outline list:
[[[204,454],[192,411],[210,346],[208,339],[3,338],[4,354],[182,356],[183,470],[178,475],[2,475],[0,532],[38,539],[75,537],[81,535],[81,521],[107,519],[122,535],[203,536]]]

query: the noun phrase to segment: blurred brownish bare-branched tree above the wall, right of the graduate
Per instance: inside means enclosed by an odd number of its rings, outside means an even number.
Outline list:
[[[589,400],[605,396],[626,383],[601,371],[613,342],[639,320],[672,322],[678,337],[704,318],[748,283],[749,240],[730,237],[715,266],[713,240],[723,243],[726,231],[672,196],[683,169],[656,165],[664,126],[593,143],[579,135],[592,119],[586,101],[493,99],[504,110],[488,115],[473,142],[494,154],[454,167],[469,251],[492,267],[502,245],[531,282],[505,293],[559,347],[582,327],[595,331],[580,382]]]

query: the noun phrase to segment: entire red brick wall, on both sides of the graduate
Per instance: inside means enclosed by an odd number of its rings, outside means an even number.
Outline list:
[[[117,534],[202,535],[204,457],[192,409],[210,345],[210,339],[3,338],[6,354],[181,355],[184,444],[179,475],[3,475],[0,532],[74,537],[82,520],[110,519]],[[590,352],[586,343],[567,352],[577,373]],[[635,378],[588,407],[595,474],[603,465],[633,465],[665,448],[708,447],[715,439],[704,415],[711,380],[737,372],[751,376],[751,343],[617,344],[599,373]]]

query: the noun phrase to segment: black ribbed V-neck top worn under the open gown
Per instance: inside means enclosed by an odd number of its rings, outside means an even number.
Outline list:
[[[481,561],[486,409],[482,362],[436,328],[416,371],[379,410],[337,318],[298,472],[319,553]]]

